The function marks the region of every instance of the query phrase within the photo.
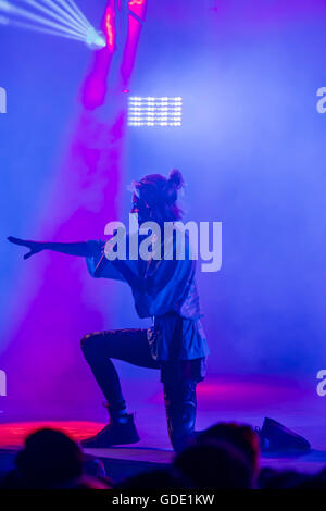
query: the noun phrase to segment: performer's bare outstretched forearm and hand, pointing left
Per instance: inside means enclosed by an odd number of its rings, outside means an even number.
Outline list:
[[[9,236],[8,240],[14,245],[21,245],[27,247],[29,252],[25,253],[24,259],[29,259],[35,253],[41,252],[42,250],[53,250],[54,252],[66,253],[68,256],[79,256],[82,258],[88,258],[91,256],[90,248],[86,241],[76,244],[55,244],[55,242],[40,242],[29,241],[21,238]]]

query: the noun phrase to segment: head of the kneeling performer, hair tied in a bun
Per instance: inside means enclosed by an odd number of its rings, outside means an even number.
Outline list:
[[[184,186],[180,171],[174,169],[168,178],[161,174],[149,174],[134,182],[133,202],[138,209],[146,209],[158,223],[180,220],[183,211],[177,204],[178,190]]]

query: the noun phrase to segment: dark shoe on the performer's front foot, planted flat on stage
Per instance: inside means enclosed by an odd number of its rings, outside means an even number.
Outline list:
[[[82,440],[85,448],[112,447],[125,444],[136,444],[139,436],[134,423],[134,415],[122,415],[103,427],[97,435]]]

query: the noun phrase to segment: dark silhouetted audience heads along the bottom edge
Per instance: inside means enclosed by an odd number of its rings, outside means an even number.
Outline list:
[[[261,469],[260,458],[260,437],[250,426],[220,423],[199,434],[168,468],[115,484],[99,459],[64,433],[45,428],[26,439],[0,489],[326,489],[326,470],[308,475]]]

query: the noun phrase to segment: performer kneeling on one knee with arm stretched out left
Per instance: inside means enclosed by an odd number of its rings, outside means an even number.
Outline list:
[[[164,222],[178,221],[178,190],[184,180],[179,171],[168,178],[159,174],[134,183],[133,213],[138,222],[155,222],[164,232]],[[82,349],[99,386],[110,414],[109,424],[96,436],[84,440],[85,447],[110,447],[139,440],[133,414],[126,402],[111,359],[156,369],[161,372],[167,427],[175,450],[181,449],[195,435],[196,386],[205,374],[208,345],[200,322],[199,297],[195,279],[196,261],[190,259],[189,236],[185,236],[185,258],[109,261],[104,241],[72,244],[26,241],[9,237],[11,242],[29,248],[30,256],[41,250],[85,257],[95,277],[117,278],[129,284],[140,317],[152,317],[153,326],[96,332],[82,339]],[[139,242],[141,236],[139,236]],[[163,240],[162,240],[163,246]]]

